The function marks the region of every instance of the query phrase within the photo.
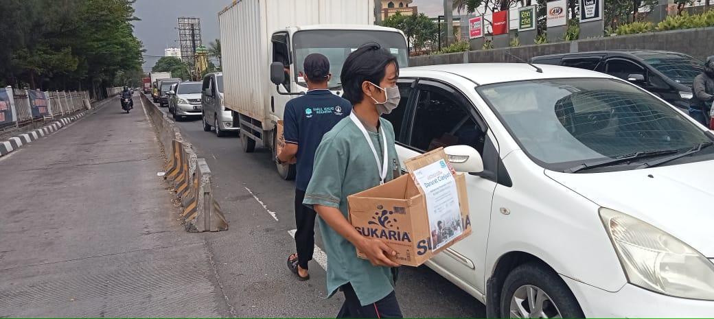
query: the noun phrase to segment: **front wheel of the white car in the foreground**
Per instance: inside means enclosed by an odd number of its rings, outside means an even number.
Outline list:
[[[519,265],[506,276],[501,290],[501,318],[554,316],[585,318],[575,295],[555,271],[543,263],[531,262]]]

